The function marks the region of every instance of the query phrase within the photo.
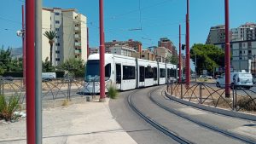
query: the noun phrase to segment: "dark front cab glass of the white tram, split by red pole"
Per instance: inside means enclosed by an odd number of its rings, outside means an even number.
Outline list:
[[[111,75],[111,65],[105,66],[105,80],[108,80]],[[100,61],[88,60],[86,64],[85,82],[100,81]]]

